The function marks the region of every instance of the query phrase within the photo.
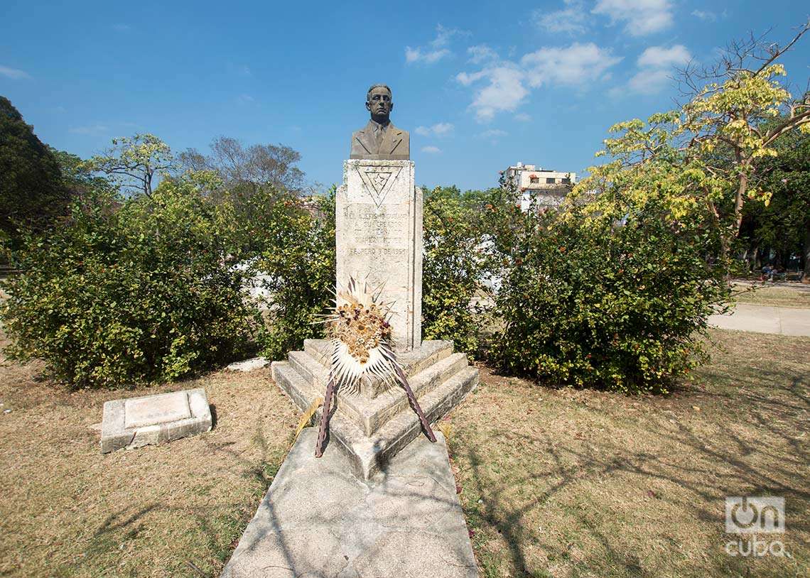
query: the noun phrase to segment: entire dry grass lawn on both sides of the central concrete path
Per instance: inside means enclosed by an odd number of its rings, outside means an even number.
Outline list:
[[[492,375],[447,419],[482,576],[807,576],[810,339],[716,331],[667,397]],[[292,440],[267,372],[213,373],[213,431],[102,455],[104,401],[0,368],[0,576],[218,576]],[[791,559],[725,554],[726,495],[787,498]]]

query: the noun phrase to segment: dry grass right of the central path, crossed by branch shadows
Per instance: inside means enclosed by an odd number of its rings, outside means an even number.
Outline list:
[[[810,339],[713,335],[667,397],[482,370],[448,419],[482,576],[808,576]],[[792,558],[727,555],[727,495],[784,496]]]

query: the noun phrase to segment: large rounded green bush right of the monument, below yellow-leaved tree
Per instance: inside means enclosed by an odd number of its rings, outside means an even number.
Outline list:
[[[497,295],[492,357],[552,384],[663,392],[701,359],[713,306],[728,298],[711,266],[716,234],[673,223],[650,200],[617,223],[582,207],[526,215]]]

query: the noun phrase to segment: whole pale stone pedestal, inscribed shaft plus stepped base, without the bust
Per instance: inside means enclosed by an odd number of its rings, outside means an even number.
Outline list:
[[[343,164],[336,198],[337,283],[349,277],[382,289],[393,315],[394,349],[428,422],[441,419],[478,384],[478,370],[453,342],[422,342],[422,191],[410,160],[352,159]],[[330,343],[307,339],[304,351],[274,361],[273,379],[305,410],[326,393]],[[354,474],[369,479],[423,435],[398,386],[364,379],[360,393],[335,393],[326,453],[343,451]],[[318,410],[320,415],[321,410]],[[314,452],[314,448],[313,448]]]

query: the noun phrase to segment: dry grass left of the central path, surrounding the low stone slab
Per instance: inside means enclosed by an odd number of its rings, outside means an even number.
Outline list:
[[[70,393],[40,369],[0,368],[0,575],[218,576],[292,442],[269,371]],[[105,401],[200,386],[213,431],[100,453]]]

